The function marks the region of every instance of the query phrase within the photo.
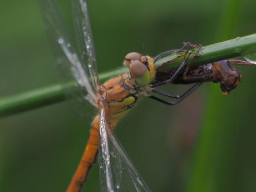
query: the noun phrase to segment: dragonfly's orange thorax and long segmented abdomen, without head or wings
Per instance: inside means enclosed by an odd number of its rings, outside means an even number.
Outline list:
[[[127,77],[127,75],[123,75],[122,77],[112,78],[101,86],[104,89],[102,92],[106,93],[106,98],[102,101],[106,120],[112,129],[115,128],[117,121],[130,111],[131,106],[137,99],[137,92],[132,90]],[[67,192],[78,192],[81,190],[83,183],[85,183],[87,175],[95,163],[98,154],[98,135],[99,114],[92,121],[90,137],[76,172],[73,175],[70,185],[68,185]]]

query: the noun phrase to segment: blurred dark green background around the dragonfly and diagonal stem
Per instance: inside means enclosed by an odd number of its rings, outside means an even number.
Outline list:
[[[256,32],[254,0],[87,3],[99,72],[131,51],[156,56],[187,41],[210,45]],[[71,2],[58,6],[72,33]],[[58,82],[37,2],[0,7],[0,97]],[[204,83],[178,106],[146,98],[117,125],[152,191],[256,191],[256,68],[238,68],[242,83],[229,95]],[[65,191],[89,129],[65,103],[2,118],[0,191]],[[82,191],[99,191],[97,163]]]

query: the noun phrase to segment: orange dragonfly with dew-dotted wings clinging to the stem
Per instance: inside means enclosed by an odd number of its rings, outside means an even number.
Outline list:
[[[194,71],[191,71],[192,62],[186,67],[184,73],[183,68],[190,54],[189,51],[185,51],[184,61],[171,72],[161,71],[163,66],[155,68],[154,61],[159,57],[151,58],[132,52],[127,54],[124,60],[124,65],[129,68],[129,73],[111,78],[100,85],[86,1],[73,0],[72,4],[78,52],[67,35],[55,2],[40,0],[46,31],[58,68],[68,82],[72,80],[73,83],[74,90],[68,90],[67,97],[89,103],[98,110],[91,124],[90,137],[85,151],[67,191],[81,190],[96,161],[98,152],[101,191],[151,191],[132,164],[113,129],[119,119],[124,117],[141,97],[146,96],[169,105],[175,105],[202,82],[214,81],[216,76],[205,78],[203,73],[196,71],[195,68]],[[214,63],[213,66],[217,66],[217,64]],[[212,68],[210,70],[206,70],[206,68],[203,70],[205,73],[214,71]],[[197,74],[197,78],[192,77],[193,74]],[[237,78],[240,82],[240,76]],[[220,79],[217,81],[220,82]],[[238,81],[233,83],[234,87],[238,85]],[[154,83],[151,84],[151,82]],[[156,89],[158,86],[170,83],[193,83],[193,86],[181,95],[173,95]],[[177,100],[165,101],[152,93]]]

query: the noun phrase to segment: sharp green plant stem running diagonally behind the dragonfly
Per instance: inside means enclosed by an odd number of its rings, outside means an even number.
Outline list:
[[[213,45],[202,47],[199,52],[199,57],[193,62],[193,66],[204,65],[205,63],[224,60],[227,58],[242,56],[248,50],[256,50],[256,33],[245,37],[237,37],[233,40],[216,43]],[[196,50],[195,50],[196,51]],[[194,51],[194,52],[195,52]],[[193,52],[193,53],[194,53]],[[155,63],[156,67],[162,65],[166,61],[173,60],[179,53],[166,55],[161,57]],[[193,57],[190,55],[188,62]],[[177,67],[181,63],[181,60],[177,60],[171,65],[166,65],[163,70],[169,70],[170,68]],[[162,69],[162,68],[161,68]],[[125,68],[118,70],[101,73],[99,75],[100,82],[105,82],[111,77],[120,75],[120,71],[127,71]],[[0,99],[0,117],[17,114],[38,107],[55,104],[65,100],[64,89],[61,84],[50,85],[36,90],[19,93],[14,96],[7,96]]]

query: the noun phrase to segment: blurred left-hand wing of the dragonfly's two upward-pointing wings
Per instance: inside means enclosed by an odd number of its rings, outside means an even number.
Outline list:
[[[92,77],[88,76],[91,75],[91,73],[87,73],[85,65],[82,64],[82,60],[78,57],[73,48],[55,2],[53,0],[39,0],[39,2],[51,48],[57,60],[57,67],[61,72],[63,85],[66,86],[65,91],[67,99],[76,100],[74,101],[76,105],[72,108],[75,108],[78,115],[83,114],[81,113],[81,111],[84,110],[82,104],[89,101],[92,105],[95,105],[95,101],[98,98],[95,83],[94,81],[92,83],[91,80],[95,79],[95,81],[97,81],[97,75],[93,75]],[[89,26],[86,27],[90,28],[90,23]],[[89,39],[91,39],[91,37]],[[88,46],[88,50],[93,50],[93,45]],[[90,46],[92,47],[90,48]]]

